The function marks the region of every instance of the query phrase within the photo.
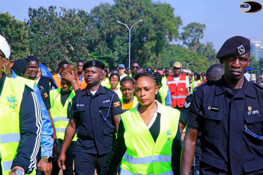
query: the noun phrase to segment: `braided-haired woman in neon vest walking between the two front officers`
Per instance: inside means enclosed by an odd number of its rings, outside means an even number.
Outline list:
[[[135,75],[138,104],[121,115],[118,137],[100,175],[180,173],[180,112],[162,105],[158,79],[152,73]],[[171,161],[173,160],[173,162]]]

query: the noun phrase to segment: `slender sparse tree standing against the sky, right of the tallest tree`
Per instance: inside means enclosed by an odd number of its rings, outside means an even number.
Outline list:
[[[206,25],[197,22],[184,26],[184,31],[181,33],[184,45],[188,46],[188,49],[197,52],[199,40],[204,37],[204,29],[206,29]]]

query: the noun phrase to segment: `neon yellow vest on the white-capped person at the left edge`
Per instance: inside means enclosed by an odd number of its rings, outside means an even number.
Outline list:
[[[20,140],[19,110],[24,87],[23,82],[6,77],[0,96],[0,153],[3,175],[11,172],[13,159],[17,154]]]

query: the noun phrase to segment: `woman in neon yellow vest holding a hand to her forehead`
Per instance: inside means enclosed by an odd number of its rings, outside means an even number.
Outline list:
[[[51,109],[50,113],[53,118],[55,129],[57,132],[57,139],[55,143],[57,145],[55,148],[62,147],[64,140],[65,129],[68,125],[67,109],[68,104],[71,103],[72,98],[75,96],[75,93],[80,92],[77,77],[75,73],[75,68],[73,66],[68,66],[62,73],[61,86],[60,89],[55,89],[50,91],[50,104]],[[74,89],[74,91],[73,91]],[[58,140],[58,141],[56,141]],[[72,152],[76,145],[77,137],[75,136],[73,142],[71,142],[68,150],[66,151],[66,160],[65,166],[67,167],[63,170],[63,174],[72,174],[73,175],[73,155]],[[57,165],[57,161],[53,160],[53,169],[51,174],[59,174],[60,168]]]

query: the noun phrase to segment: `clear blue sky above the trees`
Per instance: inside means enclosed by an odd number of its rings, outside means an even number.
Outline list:
[[[212,41],[216,51],[220,49],[225,40],[232,36],[241,35],[252,38],[251,41],[261,41],[263,46],[263,10],[258,13],[247,14],[240,12],[239,4],[244,0],[160,0],[171,4],[175,8],[174,14],[179,15],[183,26],[191,22],[206,24],[205,36],[202,43]],[[255,0],[263,4],[263,0]],[[44,6],[57,6],[65,8],[83,9],[86,12],[99,5],[100,2],[113,4],[113,0],[104,1],[63,1],[63,0],[8,0],[1,2],[0,12],[9,12],[18,20],[28,19],[28,7],[38,8]],[[180,32],[182,30],[180,29]],[[260,37],[260,38],[254,38]]]

